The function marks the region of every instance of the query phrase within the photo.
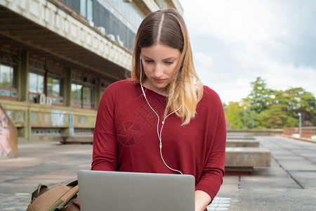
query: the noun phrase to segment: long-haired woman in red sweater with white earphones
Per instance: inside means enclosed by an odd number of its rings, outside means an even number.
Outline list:
[[[195,210],[205,210],[223,182],[225,141],[222,103],[195,72],[183,18],[151,13],[136,34],[131,79],[100,101],[92,170],[192,174]]]

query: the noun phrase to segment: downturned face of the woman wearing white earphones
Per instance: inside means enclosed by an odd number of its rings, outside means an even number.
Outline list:
[[[165,88],[173,79],[173,73],[180,60],[181,52],[164,44],[144,47],[140,51],[143,70],[147,77],[143,86],[166,95]]]

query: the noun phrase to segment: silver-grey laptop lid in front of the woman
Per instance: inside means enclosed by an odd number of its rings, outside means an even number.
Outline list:
[[[192,175],[79,170],[80,210],[192,211]]]

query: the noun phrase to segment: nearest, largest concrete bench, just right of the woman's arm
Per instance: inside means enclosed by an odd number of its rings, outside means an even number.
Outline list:
[[[270,164],[271,153],[268,148],[226,148],[225,170],[227,171],[249,171],[254,167],[270,167]]]

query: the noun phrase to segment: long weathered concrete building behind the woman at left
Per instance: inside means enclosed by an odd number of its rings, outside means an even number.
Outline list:
[[[0,0],[0,104],[19,139],[92,134],[138,25],[167,7],[183,13],[178,0]]]

